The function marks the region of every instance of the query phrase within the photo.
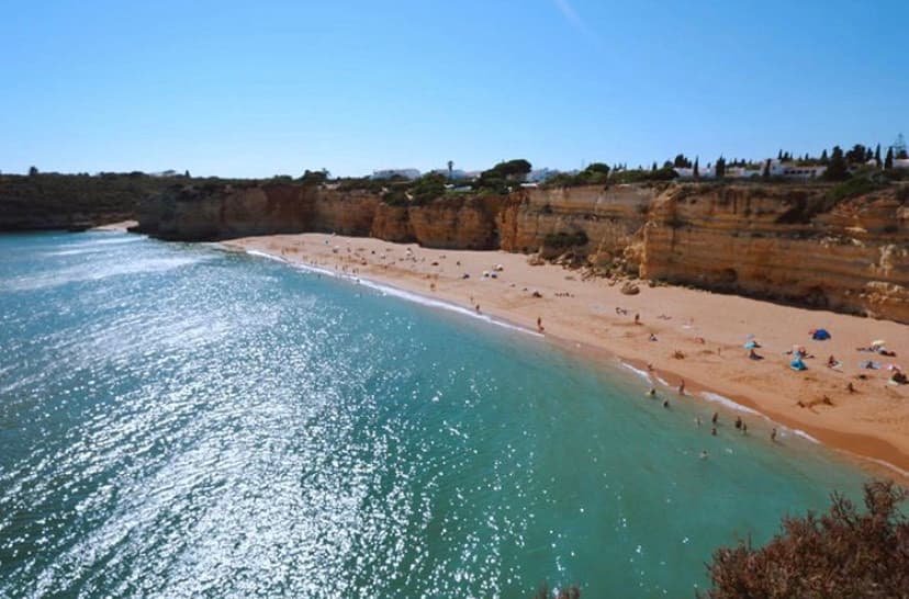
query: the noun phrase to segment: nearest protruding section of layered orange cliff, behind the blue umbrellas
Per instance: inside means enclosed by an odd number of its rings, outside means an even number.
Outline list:
[[[651,206],[641,276],[909,321],[907,197],[827,206],[812,187],[673,187]]]

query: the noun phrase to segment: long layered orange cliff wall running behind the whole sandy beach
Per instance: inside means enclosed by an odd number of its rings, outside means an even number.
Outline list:
[[[839,203],[827,200],[828,189],[530,189],[458,194],[420,206],[299,184],[183,189],[146,202],[139,230],[187,240],[322,231],[549,258],[568,252],[604,273],[909,323],[909,189]],[[584,242],[565,247],[557,244],[559,234]]]

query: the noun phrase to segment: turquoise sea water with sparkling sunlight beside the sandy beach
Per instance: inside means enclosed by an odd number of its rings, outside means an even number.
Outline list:
[[[213,246],[0,236],[0,597],[693,597],[863,473],[616,363]],[[709,457],[702,460],[706,450]]]

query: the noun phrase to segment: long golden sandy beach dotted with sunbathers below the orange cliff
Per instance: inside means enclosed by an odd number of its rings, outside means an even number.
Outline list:
[[[876,473],[909,479],[909,385],[888,382],[890,364],[909,366],[909,326],[646,283],[639,283],[637,295],[626,295],[621,282],[583,280],[582,271],[531,265],[527,256],[502,251],[427,249],[324,234],[250,237],[225,246],[393,285],[531,330],[539,319],[556,343],[588,354],[605,351],[641,369],[650,365],[673,387],[667,393],[673,402],[720,394],[868,459],[862,462]],[[832,338],[812,340],[809,331],[817,328]],[[751,335],[760,360],[749,358],[743,347]],[[885,340],[896,355],[857,350],[873,340]],[[809,354],[805,371],[789,368],[786,352],[794,346]],[[827,365],[831,355],[837,368]],[[880,368],[862,368],[867,361]],[[683,380],[685,399],[674,389]],[[766,428],[753,433],[766,434]]]

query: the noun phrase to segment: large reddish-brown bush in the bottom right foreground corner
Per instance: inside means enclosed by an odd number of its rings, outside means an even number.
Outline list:
[[[763,549],[750,540],[721,547],[707,566],[708,597],[909,598],[906,498],[894,483],[867,483],[866,513],[834,494],[824,515],[784,518],[783,533]]]

